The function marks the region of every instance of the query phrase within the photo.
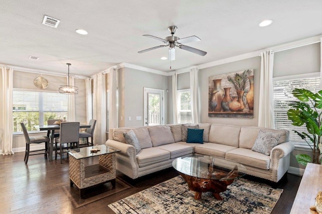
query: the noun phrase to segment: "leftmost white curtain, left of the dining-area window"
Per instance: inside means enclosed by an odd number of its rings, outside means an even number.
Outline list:
[[[13,76],[14,70],[1,67],[1,102],[0,102],[0,145],[3,155],[12,155],[12,109],[13,109]]]

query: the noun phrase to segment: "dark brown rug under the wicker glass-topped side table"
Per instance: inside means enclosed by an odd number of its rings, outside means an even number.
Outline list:
[[[79,190],[77,189],[77,187],[75,187],[75,185],[73,185],[73,187],[64,185],[62,186],[62,189],[64,190],[68,199],[71,201],[73,207],[78,208],[80,206],[92,203],[131,187],[132,186],[127,182],[116,178],[115,188],[113,188],[110,182],[105,183],[103,185],[87,189],[84,193],[83,198],[79,198]]]

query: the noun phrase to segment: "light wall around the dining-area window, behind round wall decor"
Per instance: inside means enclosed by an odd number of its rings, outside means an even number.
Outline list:
[[[14,71],[14,88],[26,88],[26,89],[38,89],[44,91],[57,91],[58,86],[66,84],[66,77],[45,75],[44,78],[48,80],[48,87],[45,89],[39,89],[34,85],[34,79],[40,76],[37,73],[29,73],[22,71]],[[78,94],[75,95],[75,113],[76,121],[86,123],[86,93],[85,93],[85,80],[75,79],[75,86],[78,87]],[[25,147],[25,139],[23,134],[13,136],[13,148]]]

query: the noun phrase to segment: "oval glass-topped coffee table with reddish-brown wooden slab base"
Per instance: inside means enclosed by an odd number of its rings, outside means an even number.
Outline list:
[[[185,179],[189,189],[196,192],[196,200],[201,198],[202,192],[212,192],[216,199],[222,200],[219,193],[247,172],[246,167],[237,162],[206,155],[177,158],[172,166]]]

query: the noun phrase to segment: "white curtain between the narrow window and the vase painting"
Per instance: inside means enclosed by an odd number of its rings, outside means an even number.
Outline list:
[[[190,91],[191,91],[191,116],[192,123],[197,124],[200,121],[199,105],[199,86],[198,69],[190,69]]]

